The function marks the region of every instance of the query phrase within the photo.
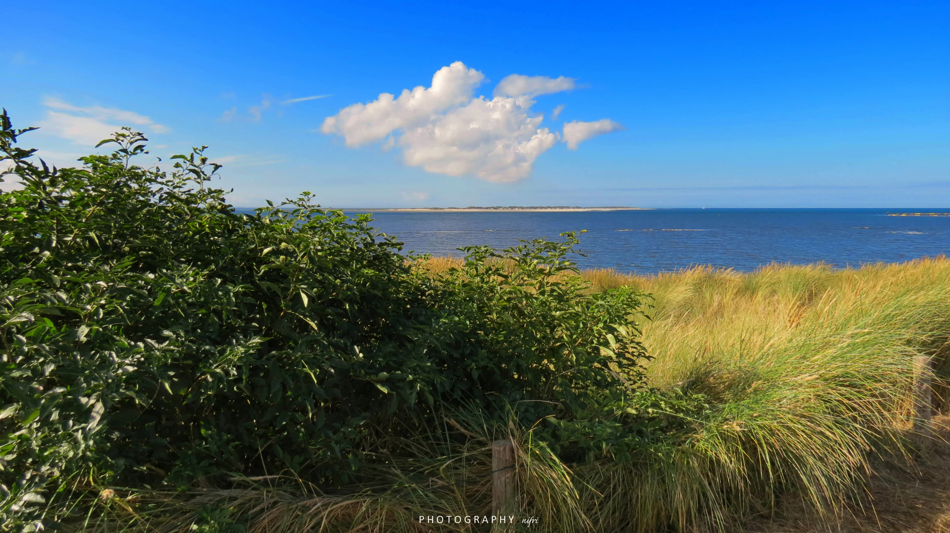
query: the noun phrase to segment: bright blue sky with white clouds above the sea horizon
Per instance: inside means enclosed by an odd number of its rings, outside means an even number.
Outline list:
[[[207,144],[238,206],[950,207],[945,1],[4,10],[26,143]],[[424,90],[444,67],[452,98]]]

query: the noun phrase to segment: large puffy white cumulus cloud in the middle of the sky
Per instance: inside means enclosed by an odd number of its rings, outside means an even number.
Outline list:
[[[383,141],[384,150],[398,147],[407,165],[431,173],[524,179],[535,159],[561,138],[542,127],[544,117],[531,110],[531,99],[573,89],[575,80],[512,74],[490,100],[474,96],[484,81],[478,70],[455,62],[440,68],[429,87],[354,103],[325,119],[320,131],[344,138],[349,147]]]

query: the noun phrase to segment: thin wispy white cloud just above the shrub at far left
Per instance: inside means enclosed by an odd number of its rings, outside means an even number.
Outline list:
[[[112,137],[122,126],[147,126],[158,134],[171,131],[148,117],[123,109],[101,105],[79,107],[56,98],[47,98],[43,105],[47,107],[47,118],[40,122],[40,127],[56,137],[79,144],[94,146],[100,140]]]

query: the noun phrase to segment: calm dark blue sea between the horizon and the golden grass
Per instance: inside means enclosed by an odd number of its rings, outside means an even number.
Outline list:
[[[838,267],[950,253],[950,216],[888,216],[950,210],[714,210],[586,212],[378,212],[373,225],[407,250],[461,255],[519,239],[587,230],[581,267],[653,273],[712,265],[751,270],[771,262]]]

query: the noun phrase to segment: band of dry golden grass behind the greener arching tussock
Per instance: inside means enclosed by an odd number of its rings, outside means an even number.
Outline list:
[[[901,326],[911,347],[946,340],[950,317],[950,260],[832,269],[826,265],[771,265],[755,272],[693,267],[656,276],[588,270],[596,290],[634,285],[655,298],[644,326],[656,384],[682,380],[711,361],[776,357],[797,340],[814,340],[841,326]],[[928,306],[928,303],[933,303]],[[880,322],[880,321],[884,322]],[[936,321],[936,322],[934,322]]]

